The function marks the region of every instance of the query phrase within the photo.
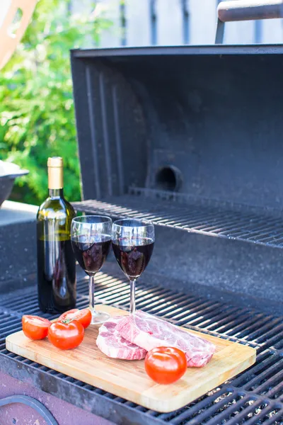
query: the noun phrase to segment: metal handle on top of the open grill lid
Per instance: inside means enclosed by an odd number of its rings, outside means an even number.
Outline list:
[[[217,16],[215,43],[221,44],[225,22],[283,18],[283,0],[221,1],[217,7]]]

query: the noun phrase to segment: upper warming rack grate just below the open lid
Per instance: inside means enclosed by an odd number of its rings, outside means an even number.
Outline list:
[[[187,203],[184,203],[185,200]],[[235,206],[233,209],[230,206],[229,209],[229,205],[216,205],[208,200],[193,203],[190,197],[185,198],[176,193],[137,188],[130,189],[130,195],[85,200],[73,205],[79,211],[110,215],[113,218],[147,219],[155,225],[175,227],[187,232],[267,246],[283,246],[282,218],[276,217],[274,211],[267,214],[262,210],[259,214],[252,208],[242,206],[237,210]]]

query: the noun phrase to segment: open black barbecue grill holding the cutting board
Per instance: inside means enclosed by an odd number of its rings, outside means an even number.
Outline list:
[[[147,410],[6,350],[22,314],[40,314],[30,276],[1,296],[2,372],[120,425],[283,424],[282,54],[281,45],[71,52],[76,210],[152,220],[156,246],[137,308],[253,346],[255,365],[176,412]],[[87,286],[79,274],[79,308]],[[96,297],[129,308],[111,256]]]

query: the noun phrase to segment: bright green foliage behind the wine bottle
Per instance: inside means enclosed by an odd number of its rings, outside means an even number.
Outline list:
[[[40,0],[16,53],[0,72],[0,159],[28,169],[13,199],[39,204],[47,194],[47,157],[64,158],[64,193],[80,199],[79,159],[69,50],[98,45],[109,22],[93,12],[75,16],[69,2]],[[82,5],[83,8],[83,5]]]

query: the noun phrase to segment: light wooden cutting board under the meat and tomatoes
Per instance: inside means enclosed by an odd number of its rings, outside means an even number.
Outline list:
[[[128,314],[108,305],[99,305],[97,309],[113,316]],[[81,346],[69,351],[55,348],[47,339],[30,341],[23,331],[7,336],[6,348],[147,409],[172,412],[255,363],[254,348],[197,331],[190,332],[212,341],[216,353],[204,368],[187,368],[183,378],[171,385],[158,385],[152,381],[144,371],[143,360],[115,360],[101,353],[96,346],[98,326],[88,327]]]

